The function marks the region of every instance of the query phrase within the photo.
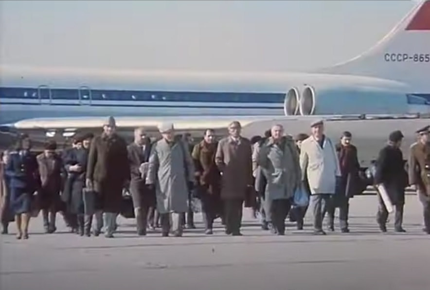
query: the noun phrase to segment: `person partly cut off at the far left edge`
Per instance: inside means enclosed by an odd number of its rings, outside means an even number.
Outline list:
[[[3,226],[2,235],[7,235],[9,222],[14,221],[11,214],[10,195],[9,195],[9,178],[5,175],[5,166],[9,162],[9,151],[5,150],[0,154],[0,217]]]

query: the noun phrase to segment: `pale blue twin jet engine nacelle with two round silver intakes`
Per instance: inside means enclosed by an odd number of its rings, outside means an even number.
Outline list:
[[[284,101],[286,116],[404,114],[409,111],[406,92],[372,86],[292,87]]]

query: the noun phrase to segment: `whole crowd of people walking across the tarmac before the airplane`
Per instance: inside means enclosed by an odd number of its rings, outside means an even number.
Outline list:
[[[423,231],[430,234],[429,127],[417,131],[407,169],[400,131],[389,135],[375,163],[374,182],[383,184],[394,204],[396,232],[405,232],[405,188],[413,185],[423,204]],[[350,132],[334,142],[319,120],[310,124],[310,135],[293,137],[274,125],[250,140],[241,136],[241,125],[234,121],[228,137],[217,141],[214,130],[207,129],[192,145],[189,134],[175,134],[173,124],[162,124],[159,131],[161,139],[151,142],[143,128],[136,128],[134,142],[127,145],[109,117],[102,134],[76,136],[61,153],[54,141],[47,141],[37,156],[29,136],[20,136],[1,156],[2,233],[15,221],[17,238],[27,239],[31,217],[41,212],[48,234],[56,231],[57,213],[62,213],[80,236],[103,231],[113,237],[125,190],[132,197],[139,236],[157,227],[162,236],[182,236],[184,228],[195,228],[195,198],[202,204],[206,235],[213,234],[214,221],[221,218],[226,235],[241,236],[244,206],[253,208],[261,228],[275,235],[285,235],[287,216],[302,230],[308,207],[315,235],[335,230],[336,208],[340,231],[350,231],[349,201],[365,187]],[[386,232],[389,212],[379,194],[378,200],[376,222]]]

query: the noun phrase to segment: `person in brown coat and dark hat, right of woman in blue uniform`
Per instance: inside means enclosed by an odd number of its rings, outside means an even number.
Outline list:
[[[62,169],[61,157],[55,152],[57,144],[55,141],[48,141],[45,144],[43,153],[37,155],[36,160],[39,167],[41,181],[40,203],[43,216],[43,226],[46,233],[54,233],[55,217],[61,210],[60,191],[62,189]]]

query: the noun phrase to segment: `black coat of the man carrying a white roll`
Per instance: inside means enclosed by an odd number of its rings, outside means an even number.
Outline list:
[[[375,184],[383,183],[393,204],[404,204],[408,173],[402,151],[387,145],[379,152],[376,161]]]

